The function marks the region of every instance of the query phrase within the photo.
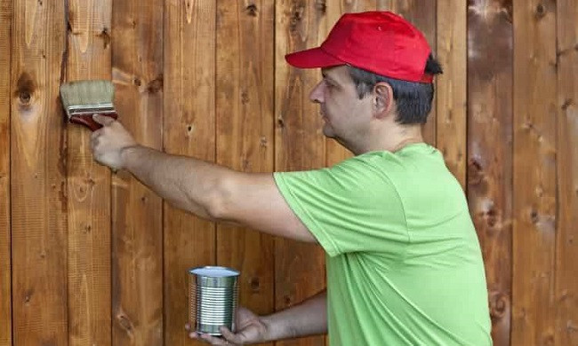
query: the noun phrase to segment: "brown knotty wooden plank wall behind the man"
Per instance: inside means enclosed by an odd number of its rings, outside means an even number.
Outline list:
[[[424,130],[470,201],[494,344],[578,345],[578,1],[0,0],[0,346],[194,344],[197,265],[242,271],[261,314],[323,289],[319,248],[200,220],[95,164],[58,89],[112,79],[122,122],[168,153],[331,165],[349,153],[321,135],[319,72],[284,55],[373,9],[412,20],[445,68]]]

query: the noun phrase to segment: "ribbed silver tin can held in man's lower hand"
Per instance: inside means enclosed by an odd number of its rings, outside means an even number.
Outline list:
[[[235,331],[239,271],[205,266],[189,269],[189,324],[197,333]]]

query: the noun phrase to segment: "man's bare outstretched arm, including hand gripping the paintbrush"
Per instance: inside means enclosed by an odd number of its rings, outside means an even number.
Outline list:
[[[317,242],[289,208],[270,173],[243,173],[139,145],[120,122],[94,117],[94,159],[126,169],[177,208],[215,221],[245,224],[269,234]]]

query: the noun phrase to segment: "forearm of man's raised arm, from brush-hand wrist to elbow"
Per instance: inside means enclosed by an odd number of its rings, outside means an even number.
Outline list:
[[[177,208],[212,219],[219,179],[231,170],[190,157],[135,145],[122,152],[124,168]]]

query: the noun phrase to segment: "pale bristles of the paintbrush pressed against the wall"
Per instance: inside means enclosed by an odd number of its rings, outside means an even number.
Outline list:
[[[77,81],[60,86],[62,106],[96,106],[112,104],[115,87],[110,81]]]

